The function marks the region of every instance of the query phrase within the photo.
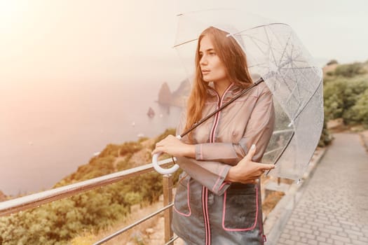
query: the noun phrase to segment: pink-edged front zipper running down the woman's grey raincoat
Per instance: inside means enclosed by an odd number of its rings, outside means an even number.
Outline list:
[[[217,109],[219,109],[222,106],[222,102],[224,100],[225,94],[229,91],[229,89],[232,85],[233,85],[233,83],[231,83],[231,85],[229,85],[229,87],[226,88],[224,94],[222,94],[221,99],[220,99],[219,94],[217,93],[217,91],[214,90],[214,92],[216,92],[216,95],[217,95]],[[214,142],[214,134],[216,132],[217,125],[219,124],[220,113],[221,113],[221,111],[216,113],[216,116],[214,116],[214,123],[212,125],[212,130],[211,130],[211,133],[210,133],[210,143]],[[208,205],[207,205],[208,189],[205,188],[205,186],[203,186],[202,193],[203,193],[203,195],[202,195],[203,218],[205,220],[205,244],[210,245],[211,244],[211,228],[210,228],[210,218],[208,216]]]

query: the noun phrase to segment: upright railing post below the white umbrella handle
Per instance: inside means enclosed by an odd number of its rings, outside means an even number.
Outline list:
[[[163,176],[163,206],[167,206],[172,202],[172,176],[171,174],[165,174]],[[171,230],[171,218],[172,218],[172,207],[166,209],[163,213],[165,222],[165,243],[170,241],[174,236]]]

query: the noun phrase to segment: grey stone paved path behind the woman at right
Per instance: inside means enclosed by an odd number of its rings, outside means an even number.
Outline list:
[[[368,244],[368,154],[358,134],[334,137],[277,244]]]

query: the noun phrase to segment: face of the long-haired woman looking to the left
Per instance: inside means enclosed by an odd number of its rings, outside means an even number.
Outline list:
[[[199,64],[203,80],[215,83],[227,81],[226,67],[214,50],[211,39],[203,36],[199,44]]]

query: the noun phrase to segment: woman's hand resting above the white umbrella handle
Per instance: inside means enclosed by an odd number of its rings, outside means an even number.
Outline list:
[[[156,148],[152,151],[152,155],[156,153],[168,153],[177,157],[194,158],[196,156],[196,148],[194,145],[184,144],[177,137],[169,135],[156,144]]]

